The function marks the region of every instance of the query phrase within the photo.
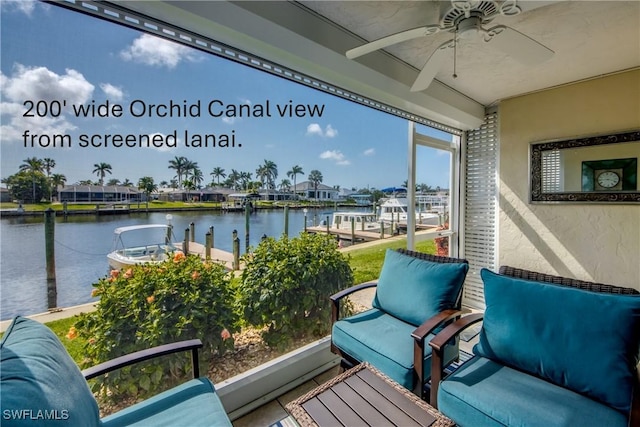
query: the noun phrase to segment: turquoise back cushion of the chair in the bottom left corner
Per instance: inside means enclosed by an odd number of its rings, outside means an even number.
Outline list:
[[[3,425],[100,425],[87,382],[48,327],[16,317],[0,342],[0,358]]]

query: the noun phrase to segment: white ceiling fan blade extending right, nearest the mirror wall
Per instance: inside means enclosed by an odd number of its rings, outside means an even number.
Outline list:
[[[525,65],[539,64],[554,55],[554,52],[542,43],[504,25],[488,29],[485,41]]]

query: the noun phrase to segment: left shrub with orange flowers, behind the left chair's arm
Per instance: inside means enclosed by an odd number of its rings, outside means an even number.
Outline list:
[[[156,345],[199,338],[203,357],[233,349],[239,330],[231,279],[224,267],[176,253],[160,264],[112,270],[95,283],[97,310],[83,314],[68,338],[86,339],[83,367]],[[180,355],[183,356],[183,355]],[[160,384],[190,372],[188,355],[123,368],[97,380],[94,391],[110,397],[153,394]]]

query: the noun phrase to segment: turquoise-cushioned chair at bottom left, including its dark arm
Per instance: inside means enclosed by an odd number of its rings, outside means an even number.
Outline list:
[[[0,424],[10,426],[231,426],[215,388],[198,376],[200,340],[143,350],[80,372],[46,326],[17,317],[0,341]],[[85,378],[149,360],[191,351],[194,379],[100,419]]]

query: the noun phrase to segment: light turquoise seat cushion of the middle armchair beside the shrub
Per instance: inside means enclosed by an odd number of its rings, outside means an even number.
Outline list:
[[[405,388],[413,389],[416,375],[413,363],[411,333],[415,326],[385,314],[378,309],[342,319],[334,323],[331,340],[354,359],[369,362]],[[427,341],[433,335],[427,336]],[[446,362],[458,357],[458,346],[447,346]],[[431,377],[431,347],[425,345],[423,378]]]

